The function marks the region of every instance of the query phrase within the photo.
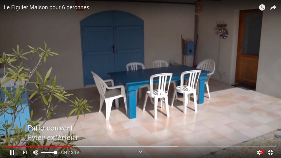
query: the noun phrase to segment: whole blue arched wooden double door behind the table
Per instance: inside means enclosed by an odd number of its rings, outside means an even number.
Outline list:
[[[84,86],[94,84],[91,71],[126,71],[130,62],[144,63],[144,22],[121,11],[95,13],[80,22]]]

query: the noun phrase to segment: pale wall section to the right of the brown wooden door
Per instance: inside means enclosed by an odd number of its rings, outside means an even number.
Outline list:
[[[263,13],[256,90],[281,98],[281,5],[278,4],[275,5],[279,9]]]

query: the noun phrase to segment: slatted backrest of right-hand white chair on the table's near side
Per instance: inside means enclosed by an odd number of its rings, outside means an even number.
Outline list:
[[[197,82],[198,82],[198,78],[200,76],[201,70],[191,70],[191,71],[185,71],[180,75],[180,91],[183,90],[183,83],[184,83],[184,79],[183,77],[185,75],[189,75],[189,79],[188,79],[188,83],[187,86],[191,87],[192,89],[185,89],[185,91],[187,90],[194,90],[197,87]],[[196,79],[197,78],[197,79]]]

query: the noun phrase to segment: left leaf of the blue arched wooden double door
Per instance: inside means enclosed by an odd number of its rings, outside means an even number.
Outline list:
[[[114,72],[113,13],[102,12],[91,15],[81,23],[81,46],[84,86],[94,84],[91,71],[103,79]]]

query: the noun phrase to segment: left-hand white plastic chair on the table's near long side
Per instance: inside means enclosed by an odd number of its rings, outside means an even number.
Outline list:
[[[169,104],[168,104],[168,91],[169,91],[169,86],[172,78],[172,73],[161,73],[161,74],[156,74],[150,76],[150,90],[146,92],[145,99],[144,99],[144,105],[143,105],[143,111],[145,110],[146,102],[148,96],[151,98],[154,98],[154,118],[157,119],[157,107],[158,107],[158,99],[160,98],[160,104],[162,108],[163,104],[163,98],[165,98],[165,105],[166,105],[166,111],[167,111],[167,117],[170,117],[169,114]],[[169,79],[168,79],[169,77]],[[153,89],[153,79],[158,78],[158,88]],[[166,85],[167,85],[167,80],[168,82],[168,88],[166,90]]]

